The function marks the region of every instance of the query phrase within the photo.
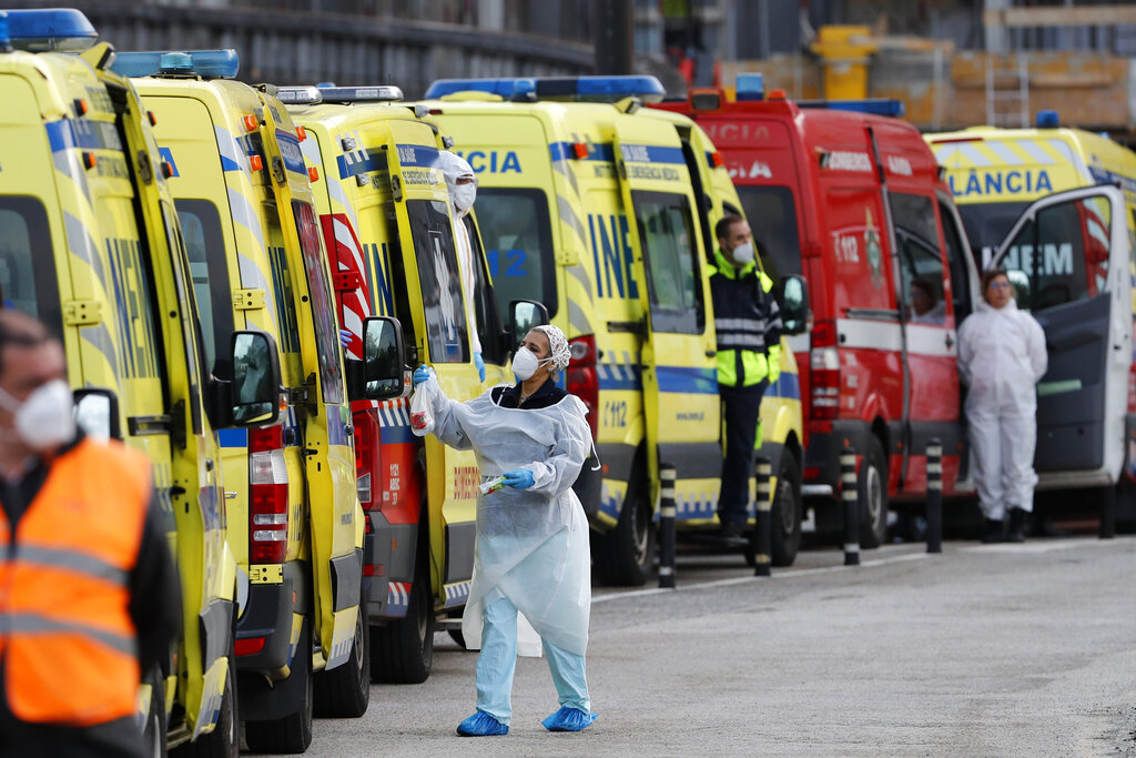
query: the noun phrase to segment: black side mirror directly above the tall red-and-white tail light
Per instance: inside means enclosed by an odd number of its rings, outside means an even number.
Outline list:
[[[281,359],[267,332],[233,332],[231,418],[234,426],[270,426],[281,415]]]

